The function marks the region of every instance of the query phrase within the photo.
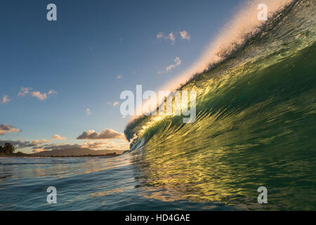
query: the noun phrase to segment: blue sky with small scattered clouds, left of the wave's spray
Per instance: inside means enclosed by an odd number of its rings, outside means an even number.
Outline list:
[[[121,92],[168,84],[241,2],[1,1],[0,144],[127,149]],[[57,21],[46,18],[51,3]]]

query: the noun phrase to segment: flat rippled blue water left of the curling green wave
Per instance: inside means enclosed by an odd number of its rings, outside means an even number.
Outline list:
[[[147,184],[137,156],[0,158],[0,210],[230,210]],[[48,204],[49,186],[57,203]]]

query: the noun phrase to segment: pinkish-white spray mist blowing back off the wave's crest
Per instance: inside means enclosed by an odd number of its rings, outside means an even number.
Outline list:
[[[284,8],[293,4],[296,0],[255,0],[246,1],[223,27],[217,37],[211,40],[202,56],[185,72],[176,79],[166,84],[162,90],[174,90],[180,84],[187,82],[193,75],[209,70],[209,68],[225,60],[233,53],[241,49],[246,41],[254,37],[263,29],[268,21],[258,20],[258,5],[268,6],[268,20],[272,20]]]

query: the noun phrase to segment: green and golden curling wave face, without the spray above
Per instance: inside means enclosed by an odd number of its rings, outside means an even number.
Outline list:
[[[143,117],[136,161],[172,200],[316,210],[315,1],[297,1],[232,58],[192,79],[197,119]],[[257,188],[268,188],[268,204]],[[152,196],[162,200],[162,197]]]

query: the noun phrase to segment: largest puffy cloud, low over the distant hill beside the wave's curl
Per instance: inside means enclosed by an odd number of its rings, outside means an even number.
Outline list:
[[[113,129],[104,129],[100,133],[89,130],[84,131],[77,139],[96,139],[96,140],[107,140],[107,139],[124,139],[125,136],[122,133],[114,131]]]

